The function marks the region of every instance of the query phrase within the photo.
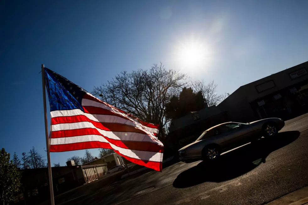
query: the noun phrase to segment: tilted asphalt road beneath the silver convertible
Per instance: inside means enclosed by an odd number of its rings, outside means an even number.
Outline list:
[[[308,185],[308,114],[275,139],[250,143],[208,165],[178,162],[118,181],[68,204],[264,204]]]

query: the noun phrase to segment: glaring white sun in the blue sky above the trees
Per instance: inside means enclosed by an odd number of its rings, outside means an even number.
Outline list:
[[[198,41],[181,43],[177,49],[178,61],[185,67],[204,66],[209,60],[209,49]]]

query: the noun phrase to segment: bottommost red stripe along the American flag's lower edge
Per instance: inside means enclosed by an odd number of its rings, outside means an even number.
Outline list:
[[[102,142],[82,142],[82,143],[73,143],[73,144],[50,145],[51,152],[66,152],[66,151],[91,149],[91,148],[112,149],[109,143],[102,143]],[[148,168],[151,168],[157,171],[162,170],[162,162],[144,161],[140,159],[135,159],[135,158],[125,156],[124,154],[121,154],[117,150],[114,150],[114,151],[135,164],[146,166]]]

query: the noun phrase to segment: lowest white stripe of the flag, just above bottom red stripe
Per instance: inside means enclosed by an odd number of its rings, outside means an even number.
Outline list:
[[[107,143],[108,141],[105,138],[102,138],[98,135],[84,135],[84,136],[75,136],[75,137],[67,137],[67,138],[51,138],[52,145],[60,145],[60,144],[72,144],[72,143],[82,143],[82,142],[103,142]],[[150,152],[150,151],[140,151],[140,150],[130,150],[118,147],[114,144],[110,143],[110,146],[114,149],[119,151],[120,153],[124,154],[125,156],[141,159],[146,161],[154,161],[159,162],[161,159],[161,153],[157,152]]]

